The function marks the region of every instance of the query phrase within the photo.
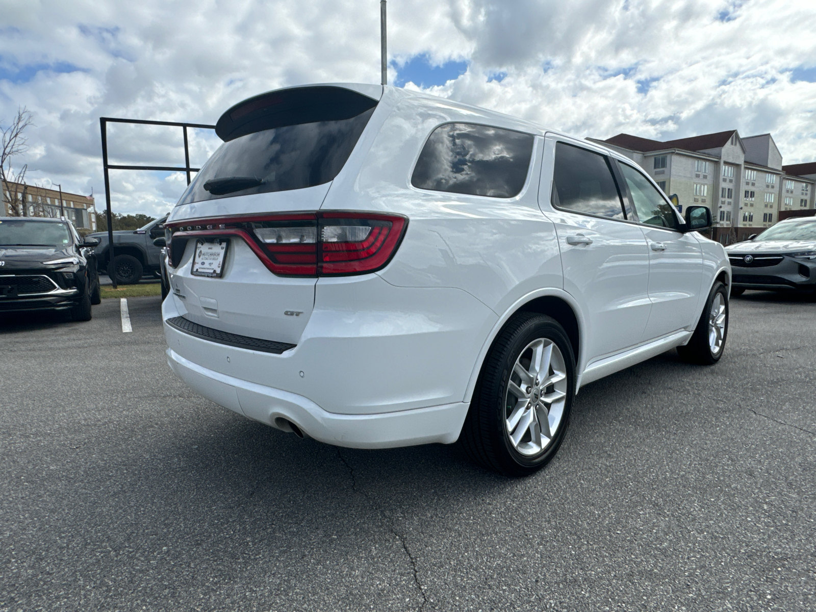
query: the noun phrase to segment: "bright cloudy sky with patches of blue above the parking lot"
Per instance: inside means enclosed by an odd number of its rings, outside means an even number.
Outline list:
[[[390,0],[389,82],[579,136],[770,132],[816,160],[814,0]],[[100,117],[215,123],[280,86],[379,82],[378,0],[0,0],[0,125],[33,112],[29,183],[104,208]],[[191,134],[200,165],[218,141]],[[112,126],[112,163],[184,165],[180,130]],[[159,215],[180,174],[111,171]]]

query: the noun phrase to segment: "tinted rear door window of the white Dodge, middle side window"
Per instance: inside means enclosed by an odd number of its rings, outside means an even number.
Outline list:
[[[624,219],[618,187],[606,157],[556,143],[552,205],[567,211]]]

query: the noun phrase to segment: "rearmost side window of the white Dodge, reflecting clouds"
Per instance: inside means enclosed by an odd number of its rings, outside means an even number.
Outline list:
[[[410,183],[419,189],[515,197],[527,180],[534,136],[498,127],[447,123],[419,153]]]

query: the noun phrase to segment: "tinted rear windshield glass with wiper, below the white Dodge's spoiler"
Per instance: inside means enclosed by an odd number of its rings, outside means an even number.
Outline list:
[[[204,164],[177,206],[328,183],[372,113],[373,108],[349,119],[275,127],[229,140]]]

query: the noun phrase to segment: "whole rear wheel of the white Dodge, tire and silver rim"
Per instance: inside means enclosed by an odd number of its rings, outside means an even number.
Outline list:
[[[490,349],[461,435],[465,452],[505,476],[543,468],[561,446],[575,395],[575,364],[561,325],[513,317]]]

